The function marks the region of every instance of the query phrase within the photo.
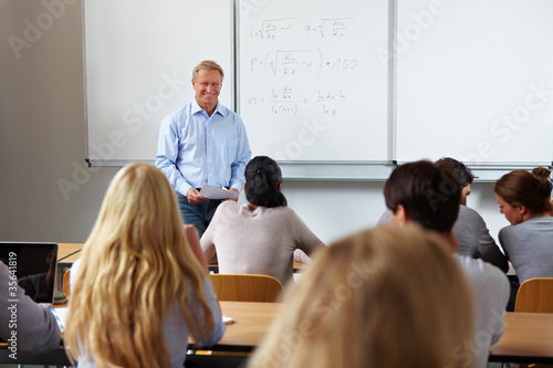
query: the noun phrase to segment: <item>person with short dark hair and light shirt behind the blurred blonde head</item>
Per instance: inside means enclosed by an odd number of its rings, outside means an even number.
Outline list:
[[[449,166],[449,167],[447,167]],[[459,250],[452,233],[459,213],[461,185],[452,175],[451,164],[430,161],[405,164],[396,168],[384,187],[386,207],[392,211],[390,222],[415,222],[441,234],[449,241],[451,253]],[[495,266],[455,254],[472,292],[476,295],[474,339],[470,347],[474,367],[486,367],[490,345],[503,334],[503,317],[510,287],[507,276]]]

